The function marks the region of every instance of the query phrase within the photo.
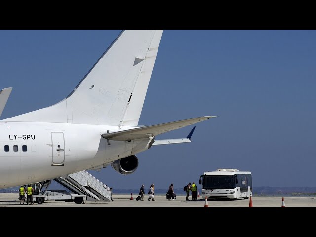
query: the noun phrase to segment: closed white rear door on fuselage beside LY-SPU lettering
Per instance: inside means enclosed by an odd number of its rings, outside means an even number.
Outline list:
[[[63,166],[65,162],[65,141],[64,133],[52,132],[51,133],[52,143],[52,166]]]

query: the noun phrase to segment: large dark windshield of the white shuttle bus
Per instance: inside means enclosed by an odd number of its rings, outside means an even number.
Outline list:
[[[212,175],[203,177],[203,189],[233,189],[236,188],[234,175]]]

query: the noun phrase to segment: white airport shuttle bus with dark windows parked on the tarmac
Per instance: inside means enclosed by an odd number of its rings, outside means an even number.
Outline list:
[[[250,171],[238,169],[217,169],[204,172],[199,178],[202,197],[205,199],[229,198],[248,199],[252,197],[252,176]]]

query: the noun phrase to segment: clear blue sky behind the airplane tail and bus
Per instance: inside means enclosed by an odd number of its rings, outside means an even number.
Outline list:
[[[1,119],[53,105],[121,30],[1,30]],[[198,183],[204,171],[251,171],[254,186],[316,187],[316,31],[165,30],[140,125],[215,115],[192,142],[139,153],[138,169],[94,176],[114,189]],[[186,137],[193,126],[156,139]]]

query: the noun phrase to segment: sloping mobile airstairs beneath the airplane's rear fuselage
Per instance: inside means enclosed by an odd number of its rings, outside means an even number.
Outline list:
[[[110,201],[111,199],[110,188],[85,170],[54,180],[74,194],[86,195],[88,201]],[[43,194],[46,192],[51,182],[52,180],[40,182],[41,188],[35,193]],[[36,188],[37,186],[35,186]]]

